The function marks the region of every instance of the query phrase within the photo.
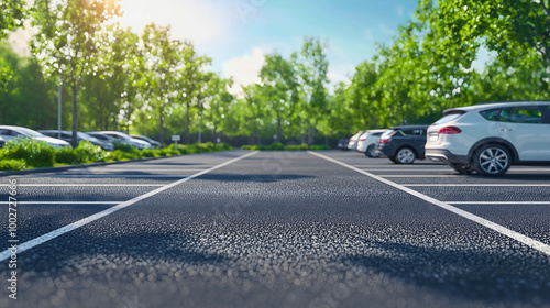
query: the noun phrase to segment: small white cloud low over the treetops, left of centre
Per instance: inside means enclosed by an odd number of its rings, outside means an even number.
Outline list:
[[[239,95],[241,86],[261,84],[260,69],[265,62],[265,54],[261,48],[254,48],[251,54],[232,58],[223,63],[223,75],[233,78],[233,92]]]

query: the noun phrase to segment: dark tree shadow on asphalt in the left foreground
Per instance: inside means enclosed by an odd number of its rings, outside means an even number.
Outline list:
[[[136,271],[136,267],[155,268],[162,263],[165,263],[165,268],[184,268],[228,262],[227,256],[208,252],[208,248],[200,244],[200,239],[178,232],[96,234],[80,229],[62,237],[61,242],[47,242],[32,252],[20,254],[19,263],[26,272],[35,273],[29,279],[55,279],[67,273],[84,271],[84,267],[92,274],[98,267],[110,265],[116,265],[112,270],[123,272],[130,268]],[[0,272],[8,271],[6,267],[0,266]]]

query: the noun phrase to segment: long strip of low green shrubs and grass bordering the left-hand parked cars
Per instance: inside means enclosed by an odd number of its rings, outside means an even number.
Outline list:
[[[232,148],[227,143],[215,145],[211,142],[189,145],[178,144],[177,148],[175,148],[174,144],[170,144],[164,148],[146,148],[143,151],[129,145],[117,144],[114,151],[108,152],[89,142],[80,142],[76,148],[54,148],[45,142],[32,139],[18,139],[6,143],[4,147],[0,148],[0,170],[22,170],[36,167],[129,161]]]

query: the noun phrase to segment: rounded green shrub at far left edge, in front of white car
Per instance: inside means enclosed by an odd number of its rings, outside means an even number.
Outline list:
[[[4,158],[24,160],[33,167],[51,167],[55,162],[55,150],[50,144],[29,138],[16,138],[4,145]]]

